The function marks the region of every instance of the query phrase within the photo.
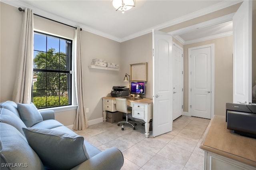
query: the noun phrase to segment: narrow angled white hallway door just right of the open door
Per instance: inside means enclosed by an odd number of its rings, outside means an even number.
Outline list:
[[[183,49],[179,45],[172,45],[172,120],[183,113]]]

